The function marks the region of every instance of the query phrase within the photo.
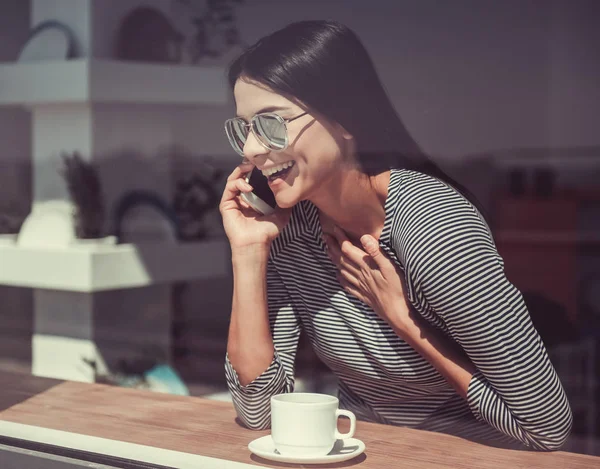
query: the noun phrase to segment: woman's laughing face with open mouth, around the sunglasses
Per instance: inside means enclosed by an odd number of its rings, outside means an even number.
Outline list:
[[[244,145],[244,156],[263,174],[280,172],[281,177],[269,181],[278,206],[289,208],[301,200],[314,199],[319,188],[326,187],[348,162],[352,137],[340,125],[246,79],[236,82],[234,96],[237,115],[246,122],[261,112],[292,119],[308,111],[287,124],[289,144],[285,150],[268,150],[252,132]]]

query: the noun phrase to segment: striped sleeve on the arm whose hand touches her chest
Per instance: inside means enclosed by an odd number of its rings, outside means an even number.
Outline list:
[[[477,368],[471,411],[531,448],[558,449],[571,409],[487,226],[439,182],[422,196],[418,221],[408,223],[412,280]]]

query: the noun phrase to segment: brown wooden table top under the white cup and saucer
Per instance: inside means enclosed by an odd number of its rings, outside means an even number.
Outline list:
[[[230,403],[0,372],[0,420],[266,467],[600,468],[600,458],[492,448],[439,433],[358,422],[363,455],[330,465],[273,463],[247,445],[268,431],[237,421]]]

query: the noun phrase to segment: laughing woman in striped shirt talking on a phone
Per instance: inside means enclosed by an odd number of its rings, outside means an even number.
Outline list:
[[[226,132],[245,157],[220,204],[240,419],[269,426],[270,397],[293,390],[302,330],[361,419],[559,448],[569,404],[490,231],[419,151],[356,35],[291,24],[229,79],[238,117]],[[240,198],[253,167],[269,176],[274,214]]]

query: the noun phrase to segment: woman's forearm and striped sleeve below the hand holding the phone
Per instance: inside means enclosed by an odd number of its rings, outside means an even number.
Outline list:
[[[292,392],[300,325],[268,253],[233,253],[234,292],[225,363],[238,417],[270,425],[271,396]]]

